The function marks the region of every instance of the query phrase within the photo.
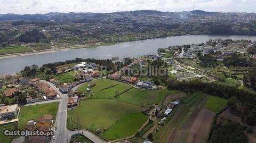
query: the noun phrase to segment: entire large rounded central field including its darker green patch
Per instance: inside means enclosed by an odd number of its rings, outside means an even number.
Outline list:
[[[143,108],[140,106],[111,99],[83,99],[75,110],[68,111],[68,128],[78,128],[79,120],[82,128],[91,131],[98,129],[101,133],[106,129],[102,134],[106,139],[128,137],[147,120],[147,116],[142,114],[141,110]],[[129,128],[123,130],[126,127]]]

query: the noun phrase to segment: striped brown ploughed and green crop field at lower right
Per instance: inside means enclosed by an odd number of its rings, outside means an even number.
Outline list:
[[[214,112],[204,108],[208,98],[208,95],[199,92],[184,97],[154,135],[154,141],[206,142],[214,117]]]

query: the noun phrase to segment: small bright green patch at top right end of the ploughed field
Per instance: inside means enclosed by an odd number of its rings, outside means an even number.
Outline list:
[[[205,103],[205,107],[213,112],[222,110],[227,105],[227,99],[220,98],[217,96],[211,96]]]

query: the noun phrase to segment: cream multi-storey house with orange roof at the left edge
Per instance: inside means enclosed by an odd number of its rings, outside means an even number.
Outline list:
[[[0,119],[15,117],[18,113],[18,104],[4,106],[0,111]]]

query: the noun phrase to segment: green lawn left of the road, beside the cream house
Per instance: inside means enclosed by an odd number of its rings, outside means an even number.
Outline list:
[[[23,130],[26,127],[28,120],[37,120],[38,117],[45,114],[50,114],[53,119],[55,119],[58,106],[59,102],[22,106],[19,116],[19,129]]]

